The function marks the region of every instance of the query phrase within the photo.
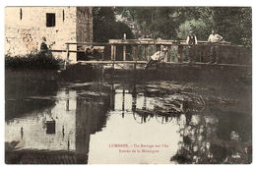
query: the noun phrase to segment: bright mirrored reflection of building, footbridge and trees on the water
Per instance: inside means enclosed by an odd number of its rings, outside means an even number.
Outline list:
[[[251,116],[222,112],[207,106],[203,96],[191,88],[166,84],[171,86],[136,82],[62,84],[56,94],[30,96],[31,103],[50,100],[54,104],[40,104],[44,108],[38,105],[37,110],[6,120],[6,162],[251,161],[251,124],[239,125],[250,121]],[[233,114],[240,118],[233,118]],[[150,148],[148,153],[122,153],[109,144],[128,144],[122,150],[141,148],[134,144],[165,146]]]

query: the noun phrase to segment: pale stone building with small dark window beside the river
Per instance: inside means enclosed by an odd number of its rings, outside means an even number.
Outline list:
[[[6,7],[5,54],[23,56],[40,49],[42,37],[51,49],[65,50],[65,42],[93,41],[92,7]],[[71,45],[70,50],[76,50]],[[65,58],[64,52],[54,52]],[[70,62],[77,54],[70,54]]]

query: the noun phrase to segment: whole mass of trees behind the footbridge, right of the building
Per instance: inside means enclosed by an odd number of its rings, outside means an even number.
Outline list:
[[[105,41],[150,36],[184,39],[194,30],[207,40],[212,28],[225,41],[251,48],[252,10],[248,7],[98,7],[94,9],[94,39]]]

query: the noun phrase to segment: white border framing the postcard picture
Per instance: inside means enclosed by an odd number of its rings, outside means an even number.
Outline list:
[[[172,167],[192,167],[192,168],[226,168],[226,167],[232,167],[232,168],[241,168],[241,167],[254,167],[255,168],[255,150],[253,149],[253,163],[252,165],[6,165],[4,163],[4,102],[5,102],[5,96],[4,96],[4,84],[5,84],[5,78],[4,78],[4,8],[6,6],[246,6],[246,7],[252,7],[253,9],[253,21],[252,23],[256,23],[255,21],[255,0],[129,0],[129,1],[123,1],[123,0],[43,0],[43,1],[34,1],[34,0],[2,0],[0,2],[0,51],[1,51],[1,61],[0,61],[0,67],[1,67],[1,86],[0,91],[0,165],[1,168],[12,168],[12,167],[19,167],[19,168],[44,168],[44,167],[61,167],[61,168],[70,168],[70,167],[106,167],[106,168],[130,168],[130,167],[160,167],[160,168],[172,168]],[[253,24],[253,49],[255,49],[255,24]],[[253,50],[253,57],[254,57],[254,50]],[[255,73],[255,59],[253,58],[253,75]],[[253,76],[253,94],[255,95],[255,80]],[[253,96],[253,105],[255,105],[255,99]],[[253,106],[253,114],[255,113],[255,108]],[[255,123],[255,117],[253,115],[253,124]],[[255,125],[253,125],[254,127]],[[255,136],[255,130],[253,130],[253,136]],[[253,137],[253,148],[254,148],[254,137]],[[107,154],[105,154],[107,155]]]

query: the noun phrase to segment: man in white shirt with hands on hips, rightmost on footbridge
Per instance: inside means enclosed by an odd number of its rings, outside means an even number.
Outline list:
[[[212,34],[209,35],[208,42],[211,45],[210,48],[210,63],[219,63],[219,52],[220,52],[220,46],[217,45],[217,43],[220,43],[224,39],[223,36],[220,34],[217,34],[215,30],[212,30]],[[215,57],[214,57],[215,56]]]

